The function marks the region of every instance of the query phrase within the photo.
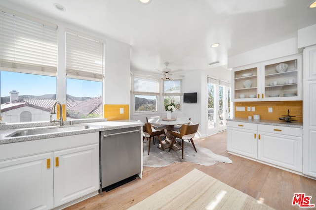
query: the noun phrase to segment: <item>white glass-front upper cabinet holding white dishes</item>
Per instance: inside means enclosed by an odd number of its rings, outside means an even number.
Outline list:
[[[234,101],[302,100],[302,56],[294,55],[233,71]]]

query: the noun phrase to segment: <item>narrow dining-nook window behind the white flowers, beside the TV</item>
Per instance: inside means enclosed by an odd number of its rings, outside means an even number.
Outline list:
[[[182,80],[163,81],[163,107],[171,102],[175,103],[177,111],[181,110],[181,96],[183,95]]]

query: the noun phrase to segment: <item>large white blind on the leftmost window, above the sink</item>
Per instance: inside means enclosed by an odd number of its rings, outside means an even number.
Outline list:
[[[44,75],[57,72],[57,25],[0,11],[0,66]]]

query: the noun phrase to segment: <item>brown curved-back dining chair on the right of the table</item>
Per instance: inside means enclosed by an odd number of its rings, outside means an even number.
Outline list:
[[[170,131],[170,134],[173,135],[173,139],[169,148],[169,151],[172,148],[172,145],[175,143],[176,138],[179,138],[180,141],[182,140],[182,159],[183,159],[183,150],[184,150],[184,140],[191,140],[190,142],[193,145],[194,150],[196,150],[196,146],[194,145],[193,142],[193,137],[195,136],[195,134],[197,133],[197,129],[198,129],[198,124],[183,124],[181,126],[180,132],[178,131]]]

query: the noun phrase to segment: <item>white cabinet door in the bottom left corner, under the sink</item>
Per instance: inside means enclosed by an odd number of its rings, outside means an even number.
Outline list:
[[[54,207],[52,152],[0,162],[0,209]]]

